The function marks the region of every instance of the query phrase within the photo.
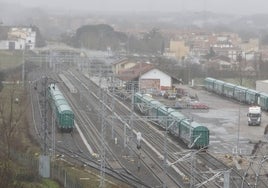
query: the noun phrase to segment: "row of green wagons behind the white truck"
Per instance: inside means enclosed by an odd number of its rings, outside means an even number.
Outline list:
[[[268,94],[211,77],[205,78],[205,89],[216,94],[268,111]]]

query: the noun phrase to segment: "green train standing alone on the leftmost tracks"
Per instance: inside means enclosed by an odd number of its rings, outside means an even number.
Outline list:
[[[56,84],[48,86],[48,100],[58,129],[61,132],[72,132],[74,113]]]

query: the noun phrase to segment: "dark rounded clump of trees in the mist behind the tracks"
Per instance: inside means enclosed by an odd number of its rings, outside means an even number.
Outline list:
[[[113,51],[150,54],[162,54],[166,43],[166,39],[157,28],[136,36],[116,31],[106,24],[81,26],[73,35],[63,34],[61,40],[77,48],[91,50],[111,48]]]

